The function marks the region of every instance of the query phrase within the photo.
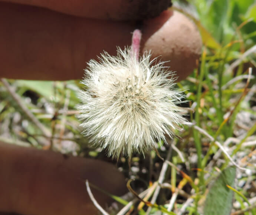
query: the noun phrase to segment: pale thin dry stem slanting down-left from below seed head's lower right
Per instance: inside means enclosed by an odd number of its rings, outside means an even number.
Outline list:
[[[158,183],[163,183],[163,181],[164,181],[165,172],[167,171],[167,168],[168,168],[167,161],[170,160],[171,152],[172,152],[171,145],[172,145],[172,143],[170,144],[170,148],[169,148],[168,153],[167,153],[166,161],[163,163],[163,166],[162,166],[159,178],[158,178]],[[155,192],[154,192],[153,197],[151,199],[151,204],[155,204],[155,201],[157,200],[160,189],[161,189],[161,186],[158,185],[157,188],[155,189]],[[150,211],[151,211],[151,207],[148,207],[146,215],[148,215],[150,213]]]

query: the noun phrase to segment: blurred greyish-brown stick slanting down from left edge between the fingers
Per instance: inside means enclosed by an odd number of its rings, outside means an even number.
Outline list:
[[[27,117],[40,129],[42,130],[42,133],[47,136],[48,138],[51,135],[51,132],[33,115],[33,113],[24,105],[22,102],[22,98],[15,93],[13,87],[7,82],[6,79],[2,78],[1,81],[3,82],[3,85],[6,87],[7,91],[10,93],[12,98],[17,102],[17,104],[20,106],[20,108],[23,110],[23,112],[27,115]]]

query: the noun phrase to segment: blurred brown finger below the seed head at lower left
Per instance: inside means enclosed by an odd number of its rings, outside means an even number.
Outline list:
[[[36,215],[98,214],[85,180],[114,195],[126,191],[114,165],[0,142],[0,211]],[[111,177],[109,177],[111,175]],[[111,198],[91,188],[104,207]]]

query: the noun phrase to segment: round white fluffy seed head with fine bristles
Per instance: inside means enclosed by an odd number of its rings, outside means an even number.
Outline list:
[[[78,107],[83,134],[113,158],[155,148],[166,141],[165,134],[172,137],[188,123],[177,106],[184,96],[173,89],[173,73],[150,56],[138,61],[130,48],[118,48],[117,56],[105,52],[85,69],[87,89],[80,92]]]

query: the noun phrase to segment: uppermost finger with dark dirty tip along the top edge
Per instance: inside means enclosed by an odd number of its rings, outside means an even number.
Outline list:
[[[73,16],[107,20],[138,20],[158,16],[170,0],[2,0],[9,3],[43,7]]]

